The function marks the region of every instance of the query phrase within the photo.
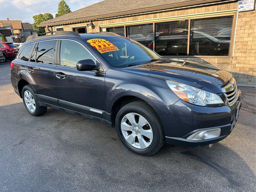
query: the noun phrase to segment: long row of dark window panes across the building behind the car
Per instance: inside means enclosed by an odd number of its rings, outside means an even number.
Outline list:
[[[126,27],[126,37],[140,42],[162,56],[230,56],[233,20],[234,15],[184,18],[107,27],[101,28],[101,31],[124,36],[123,29]]]

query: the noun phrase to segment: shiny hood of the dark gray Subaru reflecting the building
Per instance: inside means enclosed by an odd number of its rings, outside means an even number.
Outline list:
[[[121,70],[173,80],[215,93],[221,93],[221,88],[232,79],[230,73],[211,64],[178,59],[149,62],[139,66],[121,68]]]

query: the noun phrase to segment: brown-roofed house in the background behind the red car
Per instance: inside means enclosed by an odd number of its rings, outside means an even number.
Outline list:
[[[11,23],[12,24],[12,26],[14,28],[13,35],[11,36],[13,39],[13,42],[16,42],[16,43],[25,42],[21,20],[9,20],[9,18],[7,18],[7,20],[0,20],[0,22],[1,21],[3,23]]]

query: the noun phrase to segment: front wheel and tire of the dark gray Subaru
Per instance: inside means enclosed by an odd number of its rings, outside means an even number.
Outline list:
[[[115,123],[121,142],[136,154],[150,156],[164,145],[162,124],[145,102],[135,101],[122,107]]]

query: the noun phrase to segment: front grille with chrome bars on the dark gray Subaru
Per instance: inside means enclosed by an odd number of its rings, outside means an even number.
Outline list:
[[[224,95],[227,98],[228,104],[232,104],[238,96],[238,87],[236,84],[236,80],[232,78],[232,80],[226,85],[224,88],[222,88]]]

